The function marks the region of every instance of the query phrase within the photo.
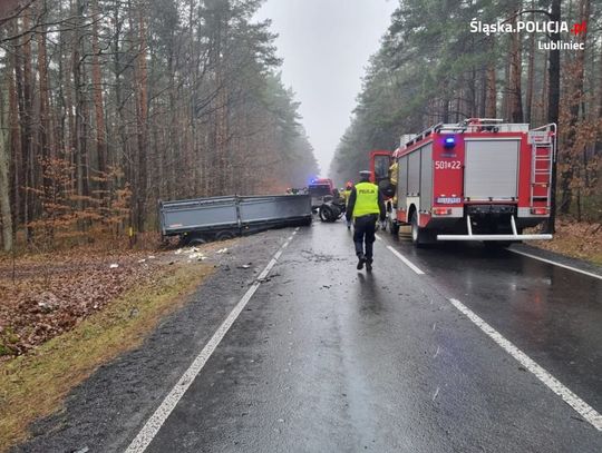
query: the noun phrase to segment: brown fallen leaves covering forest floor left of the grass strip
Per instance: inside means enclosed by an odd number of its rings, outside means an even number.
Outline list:
[[[0,264],[0,360],[71,329],[165,264],[140,252],[80,252]]]

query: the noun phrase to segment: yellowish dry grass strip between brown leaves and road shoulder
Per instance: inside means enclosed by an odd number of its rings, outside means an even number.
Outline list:
[[[0,451],[25,440],[27,426],[60,408],[69,391],[99,365],[138,346],[212,272],[212,266],[201,264],[168,266],[72,331],[31,354],[0,363]]]

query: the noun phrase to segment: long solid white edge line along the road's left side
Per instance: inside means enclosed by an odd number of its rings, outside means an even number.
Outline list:
[[[244,296],[241,298],[241,301],[236,304],[234,309],[227,315],[225,321],[222,323],[222,325],[215,331],[208,343],[203,347],[203,351],[196,356],[194,362],[191,364],[188,370],[182,375],[177,384],[172,388],[169,394],[165,396],[165,400],[161,403],[161,405],[157,407],[155,413],[148,418],[146,424],[143,426],[143,429],[139,431],[139,433],[136,435],[136,437],[132,441],[125,453],[142,453],[146,450],[146,447],[153,442],[153,439],[157,435],[158,431],[172,413],[172,411],[175,408],[182,396],[186,393],[191,384],[194,382],[198,373],[203,370],[205,366],[205,363],[208,361],[215,348],[220,345],[223,337],[230,331],[230,327],[232,327],[232,324],[236,321],[241,312],[244,309],[249,301],[251,301],[251,297],[255,294],[262,282],[265,279],[268,274],[270,274],[270,270],[272,270],[272,267],[278,263],[278,257],[282,254],[284,248],[289,245],[290,240],[287,240],[282,247],[276,252],[274,257],[270,260],[268,266],[263,269],[263,272],[259,275],[258,279],[253,283],[253,285],[246,290]],[[276,257],[278,256],[278,257]]]

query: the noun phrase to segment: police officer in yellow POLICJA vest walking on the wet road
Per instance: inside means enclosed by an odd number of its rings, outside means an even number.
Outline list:
[[[372,245],[376,223],[385,221],[385,200],[376,184],[370,183],[370,171],[360,171],[361,181],[356,184],[347,203],[347,220],[353,219],[353,243],[358,256],[358,270],[372,270]],[[366,248],[365,248],[366,243]]]

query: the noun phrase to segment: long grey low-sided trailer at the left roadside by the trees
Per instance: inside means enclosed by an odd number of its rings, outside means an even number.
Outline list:
[[[311,224],[309,195],[232,196],[159,201],[163,237],[182,244],[231,239],[271,228]]]

